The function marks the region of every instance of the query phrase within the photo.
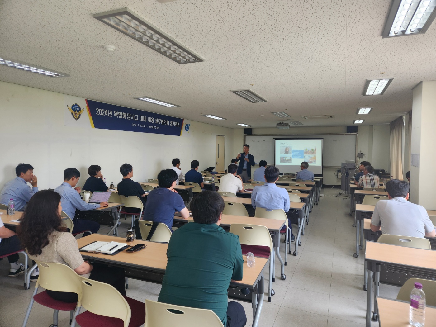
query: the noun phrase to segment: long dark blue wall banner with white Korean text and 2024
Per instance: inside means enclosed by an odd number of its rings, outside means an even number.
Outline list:
[[[86,99],[92,128],[177,135],[183,119]]]

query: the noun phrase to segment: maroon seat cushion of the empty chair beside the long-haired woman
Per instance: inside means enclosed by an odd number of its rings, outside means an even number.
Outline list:
[[[124,296],[129,303],[132,316],[130,317],[129,327],[139,327],[145,323],[145,304],[138,300]],[[76,317],[77,323],[81,327],[123,327],[123,320],[113,317],[100,316],[99,314],[85,311]]]

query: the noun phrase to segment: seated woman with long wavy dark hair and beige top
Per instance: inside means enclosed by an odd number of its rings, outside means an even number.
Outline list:
[[[61,220],[61,196],[48,190],[35,193],[27,204],[17,228],[29,258],[68,265],[78,275],[114,286],[126,296],[124,269],[85,262],[75,237]],[[55,300],[77,302],[77,294],[47,290]]]

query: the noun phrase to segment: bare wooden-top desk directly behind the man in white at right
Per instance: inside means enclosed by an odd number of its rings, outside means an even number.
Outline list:
[[[380,265],[392,264],[402,267],[421,268],[436,272],[436,251],[408,248],[378,242],[366,242],[365,261],[368,276],[373,276],[374,296],[378,296],[380,284]],[[372,274],[374,272],[374,274]],[[366,326],[371,327],[372,286],[368,283],[366,298]],[[378,317],[377,306],[374,307],[373,318]]]

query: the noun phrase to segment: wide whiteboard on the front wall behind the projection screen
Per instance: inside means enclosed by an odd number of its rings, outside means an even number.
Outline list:
[[[299,135],[245,135],[245,143],[250,146],[250,153],[254,160],[266,160],[268,164],[274,164],[274,139],[311,139],[324,138],[323,142],[323,167],[341,167],[345,160],[356,161],[357,134],[299,134]]]

